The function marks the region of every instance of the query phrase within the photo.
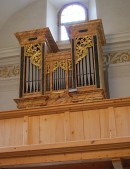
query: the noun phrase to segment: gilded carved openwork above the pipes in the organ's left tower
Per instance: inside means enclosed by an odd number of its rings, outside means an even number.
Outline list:
[[[33,65],[41,69],[42,65],[42,47],[41,44],[31,44],[25,46],[25,56],[30,57]]]

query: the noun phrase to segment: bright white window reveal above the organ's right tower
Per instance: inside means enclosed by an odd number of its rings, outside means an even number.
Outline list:
[[[89,20],[97,19],[96,0],[90,0],[88,8]]]

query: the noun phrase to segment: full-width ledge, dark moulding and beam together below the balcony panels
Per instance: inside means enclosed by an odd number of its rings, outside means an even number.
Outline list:
[[[0,149],[0,167],[95,162],[130,157],[130,138]]]

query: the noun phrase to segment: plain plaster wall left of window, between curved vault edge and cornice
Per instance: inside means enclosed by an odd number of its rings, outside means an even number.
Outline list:
[[[19,46],[15,32],[46,26],[46,0],[37,0],[13,15],[0,30],[0,48]]]

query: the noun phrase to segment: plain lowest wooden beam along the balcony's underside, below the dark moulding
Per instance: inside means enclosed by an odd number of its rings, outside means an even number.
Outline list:
[[[130,157],[130,148],[102,150],[91,152],[75,152],[75,153],[61,153],[61,154],[46,154],[46,155],[28,155],[0,158],[0,167],[19,167],[19,166],[48,166],[56,164],[76,163],[77,161],[91,162],[110,160],[115,158]],[[121,169],[121,168],[118,168]]]

